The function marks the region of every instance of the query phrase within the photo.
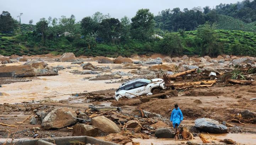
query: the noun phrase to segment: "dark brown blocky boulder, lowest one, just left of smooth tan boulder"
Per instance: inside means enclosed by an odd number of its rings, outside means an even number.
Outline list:
[[[97,127],[86,124],[76,124],[73,126],[72,136],[96,137],[100,134]]]

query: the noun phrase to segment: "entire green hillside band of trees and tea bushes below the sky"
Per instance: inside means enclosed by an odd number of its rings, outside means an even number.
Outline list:
[[[20,14],[21,19],[22,13]],[[220,4],[216,8],[167,9],[154,16],[140,9],[131,19],[96,12],[77,22],[74,15],[41,18],[20,24],[0,15],[0,54],[85,56],[150,56],[219,54],[256,56],[256,0]]]

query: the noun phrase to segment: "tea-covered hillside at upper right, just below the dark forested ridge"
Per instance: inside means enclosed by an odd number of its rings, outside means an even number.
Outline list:
[[[256,22],[244,23],[233,17],[217,14],[216,29],[256,32]]]

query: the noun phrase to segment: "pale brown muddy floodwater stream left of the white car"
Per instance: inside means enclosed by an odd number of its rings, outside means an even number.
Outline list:
[[[80,65],[71,65],[71,62],[46,62],[49,66],[62,65],[75,66],[71,69],[64,69],[59,71],[59,75],[49,77],[36,77],[32,78],[32,81],[4,84],[0,87],[0,92],[4,93],[4,96],[0,96],[0,103],[21,103],[23,101],[39,101],[45,99],[45,97],[51,97],[53,100],[67,99],[71,93],[82,93],[84,91],[99,91],[105,89],[118,88],[120,83],[106,84],[111,80],[83,80],[85,77],[95,77],[97,74],[72,74],[70,71],[78,70],[83,71]],[[85,62],[86,63],[86,62]],[[98,64],[98,62],[91,62],[97,66],[114,66],[118,64]],[[13,63],[8,65],[22,65],[23,63]],[[117,70],[112,70],[112,72]],[[130,70],[118,70],[128,72]],[[104,73],[102,73],[104,74]],[[122,77],[126,78],[126,77]],[[119,80],[119,79],[117,79]],[[116,80],[115,80],[116,81]],[[63,96],[59,96],[63,95]]]

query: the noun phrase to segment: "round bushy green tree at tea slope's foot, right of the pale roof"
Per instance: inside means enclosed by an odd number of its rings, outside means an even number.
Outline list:
[[[183,45],[179,34],[166,33],[161,40],[159,52],[170,56],[181,55],[183,52]]]

